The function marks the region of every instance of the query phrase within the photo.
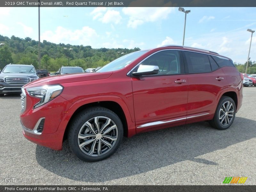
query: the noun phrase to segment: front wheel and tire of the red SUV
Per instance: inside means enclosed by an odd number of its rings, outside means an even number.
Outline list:
[[[123,124],[113,111],[92,107],[83,110],[73,119],[69,127],[68,143],[79,159],[96,162],[114,154],[123,135]]]

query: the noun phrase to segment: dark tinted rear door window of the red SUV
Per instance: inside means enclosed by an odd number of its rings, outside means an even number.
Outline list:
[[[188,63],[188,73],[211,72],[211,64],[208,55],[196,52],[184,51]]]

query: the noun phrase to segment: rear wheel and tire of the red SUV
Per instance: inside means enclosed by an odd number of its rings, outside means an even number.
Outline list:
[[[227,113],[225,113],[227,111]],[[228,129],[236,116],[236,104],[233,99],[222,96],[216,108],[214,117],[209,121],[210,125],[219,130]],[[221,119],[220,119],[221,118]]]

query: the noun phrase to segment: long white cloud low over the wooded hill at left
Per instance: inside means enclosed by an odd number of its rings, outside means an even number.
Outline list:
[[[84,44],[93,45],[94,39],[98,38],[96,31],[88,26],[82,29],[70,30],[61,26],[53,31],[45,31],[41,35],[42,40],[50,41],[56,44]]]

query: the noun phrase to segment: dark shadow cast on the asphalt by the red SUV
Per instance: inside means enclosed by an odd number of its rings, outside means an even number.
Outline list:
[[[255,127],[256,121],[236,117],[233,125],[224,131],[199,122],[142,133],[124,138],[113,156],[96,163],[76,158],[65,141],[62,151],[37,146],[36,160],[54,174],[85,182],[129,177],[185,160],[216,166],[216,162],[197,156],[252,139],[256,136]]]

